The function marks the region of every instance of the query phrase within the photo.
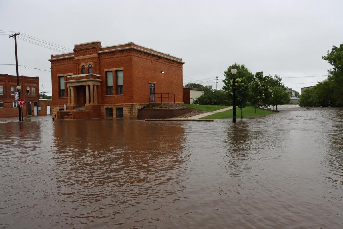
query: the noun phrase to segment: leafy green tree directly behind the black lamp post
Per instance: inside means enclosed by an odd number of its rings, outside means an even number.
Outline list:
[[[225,79],[223,80],[224,86],[223,90],[228,92],[229,100],[233,100],[233,75],[231,74],[231,69],[235,66],[237,69],[236,73],[236,105],[240,108],[240,116],[242,116],[242,108],[248,104],[250,96],[250,85],[253,80],[253,74],[246,68],[243,64],[239,65],[237,63],[230,65],[226,71],[224,71]]]

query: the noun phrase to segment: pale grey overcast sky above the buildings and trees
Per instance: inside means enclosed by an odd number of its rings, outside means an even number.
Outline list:
[[[326,79],[331,66],[321,57],[343,43],[342,0],[0,0],[0,9],[0,30],[19,31],[69,49],[96,40],[102,46],[132,41],[183,58],[185,84],[200,80],[215,88],[218,76],[218,89],[223,71],[237,62],[252,73],[320,76],[283,79],[300,92],[301,87]],[[15,64],[13,38],[2,35],[0,42],[0,64]],[[59,54],[22,40],[17,46],[19,65],[26,67],[50,70],[47,59]],[[15,75],[15,66],[0,65],[0,73]],[[40,89],[44,84],[51,95],[50,72],[20,66],[19,75],[39,76]]]

